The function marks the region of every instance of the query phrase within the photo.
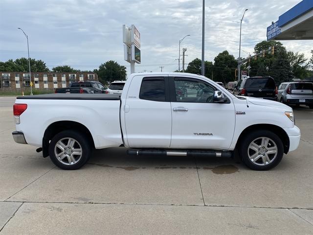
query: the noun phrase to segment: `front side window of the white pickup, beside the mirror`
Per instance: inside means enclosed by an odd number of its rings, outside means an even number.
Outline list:
[[[212,103],[216,89],[208,83],[197,79],[175,78],[177,102]]]

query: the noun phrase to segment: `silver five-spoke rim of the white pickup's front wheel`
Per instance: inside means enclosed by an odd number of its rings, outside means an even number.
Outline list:
[[[268,165],[272,163],[277,153],[276,143],[268,137],[257,138],[248,146],[249,160],[256,165]]]

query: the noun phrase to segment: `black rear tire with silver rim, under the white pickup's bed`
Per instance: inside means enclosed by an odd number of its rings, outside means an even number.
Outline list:
[[[74,140],[72,148],[70,147],[69,140]],[[60,141],[65,145],[65,150],[61,150]],[[56,147],[56,144],[59,145]],[[72,142],[71,142],[72,143]],[[70,149],[71,148],[71,149]],[[77,151],[76,154],[71,154],[73,151]],[[64,154],[62,154],[62,152]],[[60,159],[63,157],[64,160],[58,160],[56,153],[62,154]],[[81,153],[81,154],[79,154]],[[71,157],[69,156],[71,155]],[[49,144],[49,156],[51,161],[58,167],[64,170],[76,170],[82,167],[87,163],[91,155],[91,145],[86,137],[77,131],[66,130],[56,134]],[[69,159],[72,159],[72,162],[69,162]],[[76,161],[74,163],[74,161]]]

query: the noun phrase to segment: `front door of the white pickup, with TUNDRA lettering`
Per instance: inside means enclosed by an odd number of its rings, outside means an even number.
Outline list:
[[[201,79],[175,77],[171,83],[171,148],[228,149],[235,129],[232,99],[214,103],[213,84]]]

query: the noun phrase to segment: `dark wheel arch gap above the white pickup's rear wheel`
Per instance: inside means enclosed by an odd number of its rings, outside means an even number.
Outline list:
[[[65,130],[75,130],[79,131],[82,134],[86,135],[88,141],[91,143],[91,146],[94,148],[94,140],[92,138],[92,135],[89,131],[89,129],[76,121],[56,121],[51,123],[46,129],[45,129],[45,134],[43,137],[43,156],[44,158],[49,156],[48,153],[48,148],[49,148],[49,143],[51,139],[61,131]]]

